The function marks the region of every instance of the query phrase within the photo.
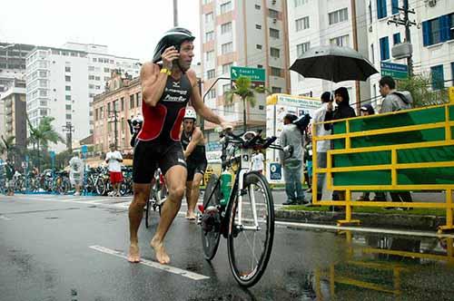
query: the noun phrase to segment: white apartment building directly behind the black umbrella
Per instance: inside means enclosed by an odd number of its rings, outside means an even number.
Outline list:
[[[357,49],[368,57],[364,0],[289,0],[287,5],[291,63],[311,47],[331,44]],[[359,83],[357,89],[354,81],[332,83],[291,72],[295,95],[320,97],[341,86],[349,90],[350,103],[370,98],[369,83]]]

